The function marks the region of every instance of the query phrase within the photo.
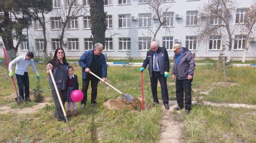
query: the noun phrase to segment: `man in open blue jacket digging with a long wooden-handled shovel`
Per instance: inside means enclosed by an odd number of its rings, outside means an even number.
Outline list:
[[[91,81],[92,93],[91,93],[91,105],[95,107],[96,97],[97,97],[97,88],[99,79],[90,74],[90,71],[100,78],[106,81],[107,77],[107,63],[105,56],[102,53],[103,45],[101,43],[96,43],[93,50],[86,51],[79,59],[79,65],[82,67],[82,92],[84,98],[81,101],[81,109],[85,107],[87,101],[87,90],[89,83]]]

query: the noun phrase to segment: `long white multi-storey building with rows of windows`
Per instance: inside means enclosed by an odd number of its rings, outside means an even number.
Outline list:
[[[53,0],[53,9],[58,8],[62,0]],[[153,34],[148,30],[156,30],[156,15],[150,11],[145,1],[147,0],[104,0],[104,10],[107,12],[106,24],[106,40],[111,34],[116,34],[106,42],[108,48],[107,55],[111,58],[126,57],[130,52],[134,58],[145,58],[146,51],[150,48],[150,41]],[[197,26],[197,17],[199,16],[199,6],[208,3],[209,0],[165,0],[164,4],[171,6],[169,11],[164,15],[167,23],[160,28],[157,33],[156,40],[160,46],[166,47],[169,57],[172,58],[174,53],[170,51],[175,42],[180,43],[183,47],[189,48],[192,53],[195,52],[196,57],[216,58],[221,52],[224,41],[227,39],[221,36],[212,36],[206,43],[199,44],[195,35]],[[233,14],[233,25],[239,25],[241,22],[236,21],[242,19],[244,10],[250,8],[253,0],[239,0],[236,13]],[[83,6],[89,11],[88,0],[79,0]],[[61,17],[55,17],[54,14],[47,14],[47,51],[52,51],[60,45],[59,35],[61,34]],[[93,48],[90,39],[90,13],[84,17],[73,19],[68,24],[68,29],[64,34],[63,48],[67,57],[79,58],[86,50]],[[170,32],[166,31],[166,27]],[[26,34],[26,30],[24,30]],[[232,58],[241,59],[244,53],[245,36],[241,35],[241,31],[235,31],[233,34],[233,51]],[[38,21],[32,21],[28,29],[29,47],[35,51],[43,50],[44,39],[41,25]],[[254,38],[255,39],[255,38]],[[2,41],[0,39],[0,41]],[[256,57],[256,42],[251,39],[246,58]],[[237,44],[236,44],[236,43]],[[15,43],[16,44],[16,43]],[[3,48],[3,42],[0,48]],[[26,41],[20,44],[18,55],[24,55],[28,51]],[[106,51],[103,52],[106,54]],[[228,54],[228,48],[224,51]],[[0,51],[3,55],[3,51]]]

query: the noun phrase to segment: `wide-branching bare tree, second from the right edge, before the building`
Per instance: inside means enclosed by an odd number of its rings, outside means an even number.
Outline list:
[[[209,36],[220,35],[221,39],[227,39],[227,45],[230,53],[232,52],[232,35],[234,32],[232,15],[236,12],[236,0],[210,0],[199,8],[201,12],[198,17],[198,42],[208,42]]]

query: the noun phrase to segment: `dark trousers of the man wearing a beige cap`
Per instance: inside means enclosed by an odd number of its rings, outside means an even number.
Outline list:
[[[192,80],[188,79],[182,79],[178,80],[176,79],[176,98],[177,98],[177,104],[179,107],[183,108],[184,107],[184,102],[183,102],[183,96],[185,93],[185,109],[190,110],[191,109],[191,83]]]

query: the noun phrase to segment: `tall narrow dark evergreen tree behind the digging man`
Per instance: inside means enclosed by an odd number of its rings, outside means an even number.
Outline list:
[[[93,45],[101,43],[105,48],[105,31],[107,29],[105,20],[106,13],[104,12],[104,0],[89,0],[90,15],[91,15],[91,31],[93,34]]]

